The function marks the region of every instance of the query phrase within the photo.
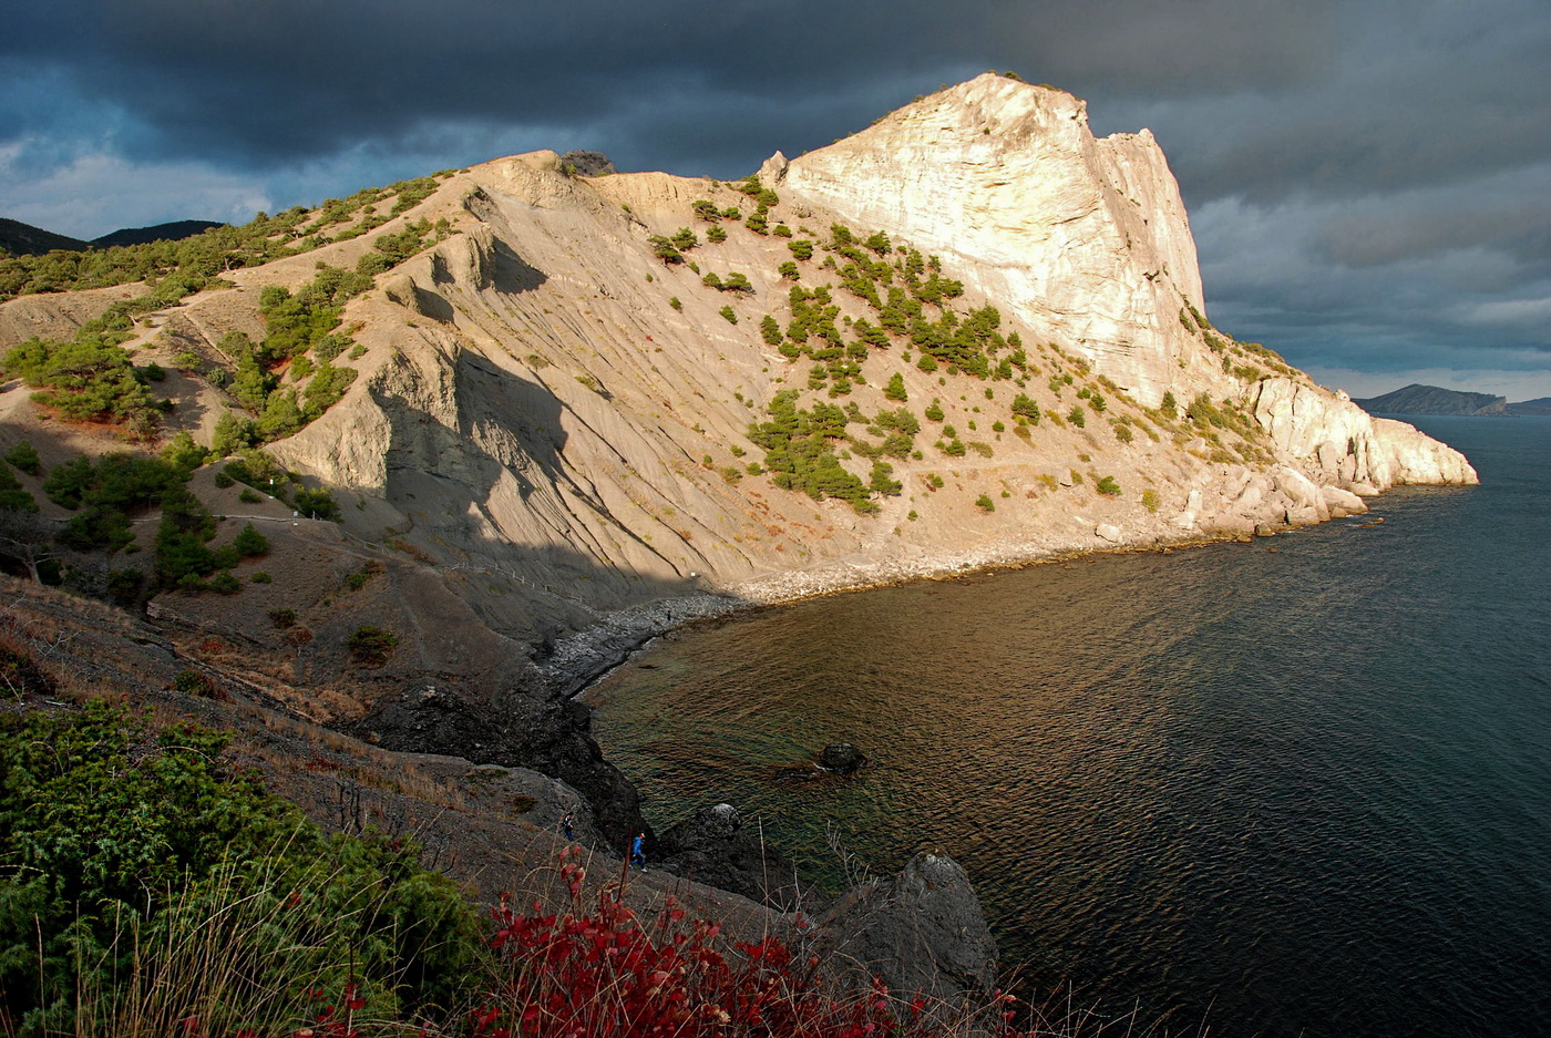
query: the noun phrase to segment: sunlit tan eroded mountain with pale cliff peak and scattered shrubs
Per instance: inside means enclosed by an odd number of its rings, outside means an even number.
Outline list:
[[[1241,535],[1475,479],[1211,327],[1162,152],[1095,140],[1070,95],[980,76],[762,172],[585,178],[535,152],[444,177],[382,230],[445,230],[344,309],[360,377],[270,450],[524,645],[703,591]],[[368,250],[231,272],[135,344],[230,366],[265,285]],[[233,399],[175,389],[208,442]]]

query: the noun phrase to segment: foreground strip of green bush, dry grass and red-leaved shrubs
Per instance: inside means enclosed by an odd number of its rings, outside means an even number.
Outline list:
[[[817,957],[732,942],[672,898],[641,915],[628,874],[583,894],[560,853],[558,911],[479,912],[413,843],[326,835],[237,773],[222,734],[155,731],[51,692],[0,647],[0,1033],[247,1036],[937,1038],[1014,1029],[1011,999],[965,1010],[839,991]]]

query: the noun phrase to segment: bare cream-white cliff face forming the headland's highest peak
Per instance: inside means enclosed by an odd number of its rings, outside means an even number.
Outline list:
[[[782,185],[968,261],[972,284],[1148,405],[1225,386],[1185,205],[1146,130],[1095,140],[1087,106],[993,73],[791,161]]]

